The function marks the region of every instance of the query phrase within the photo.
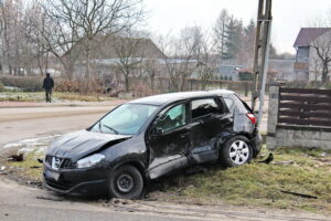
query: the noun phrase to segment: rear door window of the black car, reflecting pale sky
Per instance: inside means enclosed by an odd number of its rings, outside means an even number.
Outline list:
[[[222,114],[222,109],[213,98],[192,101],[192,118],[199,118],[209,114]]]

